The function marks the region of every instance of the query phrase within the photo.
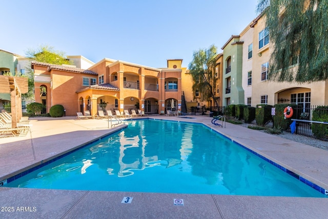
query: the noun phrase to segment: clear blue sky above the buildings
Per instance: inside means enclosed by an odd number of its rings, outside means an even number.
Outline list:
[[[92,62],[119,59],[167,67],[221,47],[254,18],[258,0],[0,0],[0,49],[25,55],[41,45]]]

